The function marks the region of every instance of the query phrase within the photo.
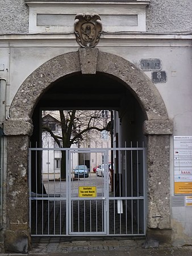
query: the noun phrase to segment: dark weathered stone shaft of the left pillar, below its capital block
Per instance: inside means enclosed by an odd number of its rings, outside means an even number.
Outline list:
[[[9,230],[28,230],[28,137],[7,137],[7,221]]]

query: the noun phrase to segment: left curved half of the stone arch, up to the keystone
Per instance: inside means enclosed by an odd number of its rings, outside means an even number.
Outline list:
[[[37,68],[20,86],[10,108],[11,118],[31,118],[43,93],[57,79],[80,72],[78,52],[65,53],[48,60]]]

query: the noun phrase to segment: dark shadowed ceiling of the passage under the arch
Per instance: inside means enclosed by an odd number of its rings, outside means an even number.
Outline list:
[[[132,96],[126,86],[110,76],[76,74],[53,82],[38,105],[41,108],[118,110],[125,95]]]

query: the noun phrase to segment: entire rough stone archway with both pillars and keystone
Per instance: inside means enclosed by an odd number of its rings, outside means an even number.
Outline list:
[[[27,251],[30,238],[27,164],[34,108],[52,82],[76,72],[112,75],[122,81],[140,103],[146,116],[143,132],[148,138],[147,225],[153,237],[157,234],[157,239],[164,237],[167,242],[169,236],[164,231],[170,229],[169,135],[172,134],[172,122],[168,119],[164,102],[148,77],[129,61],[110,53],[99,52],[97,48],[81,48],[78,52],[57,56],[37,68],[23,82],[12,101],[10,119],[4,125],[8,145],[9,184],[5,247],[17,247],[22,241],[22,249],[19,251]]]

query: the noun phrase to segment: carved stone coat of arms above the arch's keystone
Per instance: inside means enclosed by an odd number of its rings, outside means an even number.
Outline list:
[[[77,14],[74,20],[74,34],[82,47],[95,47],[102,33],[101,18],[98,14]]]

